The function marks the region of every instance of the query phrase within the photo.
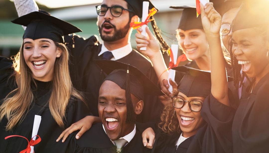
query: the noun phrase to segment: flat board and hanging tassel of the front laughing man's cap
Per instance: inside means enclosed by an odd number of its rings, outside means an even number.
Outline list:
[[[139,100],[144,100],[145,94],[164,95],[150,79],[148,79],[139,69],[134,66],[112,60],[94,61],[105,73],[108,74],[104,81],[113,81],[126,91],[126,122],[128,123],[135,122],[131,94],[136,96]]]

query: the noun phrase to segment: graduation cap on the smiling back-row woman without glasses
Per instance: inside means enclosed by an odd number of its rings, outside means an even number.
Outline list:
[[[195,6],[170,6],[172,9],[183,9],[178,29],[184,31],[191,29],[203,29],[201,17],[196,17]]]

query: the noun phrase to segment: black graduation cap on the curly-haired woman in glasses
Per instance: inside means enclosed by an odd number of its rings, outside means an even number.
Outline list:
[[[187,97],[207,97],[211,93],[211,72],[194,69],[187,66],[172,68],[179,72],[185,72],[178,85],[178,91]],[[228,77],[228,81],[233,78]]]

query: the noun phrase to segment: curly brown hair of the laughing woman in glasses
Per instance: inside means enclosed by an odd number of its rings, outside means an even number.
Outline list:
[[[178,90],[173,89],[173,96],[178,95]],[[161,122],[158,124],[158,127],[169,135],[174,133],[181,133],[178,118],[175,115],[175,109],[172,105],[166,105],[161,114]]]

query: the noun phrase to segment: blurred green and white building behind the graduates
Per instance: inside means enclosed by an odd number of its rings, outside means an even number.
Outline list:
[[[38,0],[40,2],[42,0]],[[55,0],[57,1],[57,0]],[[82,1],[82,0],[80,0]],[[75,26],[83,30],[78,35],[88,38],[91,35],[97,35],[100,39],[98,29],[97,29],[97,13],[95,6],[100,3],[91,3],[89,0],[85,0],[89,4],[78,5],[78,6],[68,6],[61,7],[59,5],[57,8],[49,8],[46,5],[46,1],[37,3],[38,7],[43,10],[47,10],[52,16],[58,17],[62,20],[66,20]],[[100,0],[101,1],[101,0]],[[195,1],[190,0],[151,0],[152,3],[160,11],[154,15],[157,25],[162,30],[165,40],[169,45],[177,44],[175,37],[175,30],[178,27],[178,21],[180,19],[182,10],[175,10],[169,8],[169,6],[179,6],[179,5],[195,5]],[[17,12],[15,5],[10,0],[0,0],[0,56],[10,57],[15,55],[21,44],[23,29],[20,25],[16,25],[10,22],[17,17]],[[150,24],[148,24],[151,28]],[[134,34],[136,30],[133,31],[131,36],[131,43],[133,48],[136,48]]]

